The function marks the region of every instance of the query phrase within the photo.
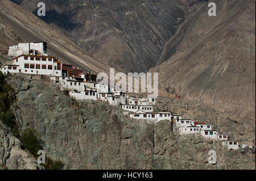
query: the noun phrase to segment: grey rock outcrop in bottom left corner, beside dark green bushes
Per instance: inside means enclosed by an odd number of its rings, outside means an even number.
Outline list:
[[[0,167],[9,170],[42,170],[36,159],[20,148],[20,140],[0,121]]]

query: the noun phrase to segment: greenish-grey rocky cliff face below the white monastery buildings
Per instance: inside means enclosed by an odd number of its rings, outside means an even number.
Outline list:
[[[72,100],[40,76],[13,75],[8,82],[15,89],[13,112],[20,127],[35,129],[46,154],[60,159],[65,169],[255,169],[255,151],[228,151],[218,141],[181,137],[169,121],[154,125],[131,121],[119,107]],[[182,108],[176,103],[177,112],[184,110],[183,101]],[[218,117],[219,112],[208,113],[209,107],[198,106],[191,114],[197,111],[209,120],[210,115]],[[226,124],[226,129],[243,129],[226,119],[214,121]],[[216,165],[208,163],[209,150],[217,153]]]

